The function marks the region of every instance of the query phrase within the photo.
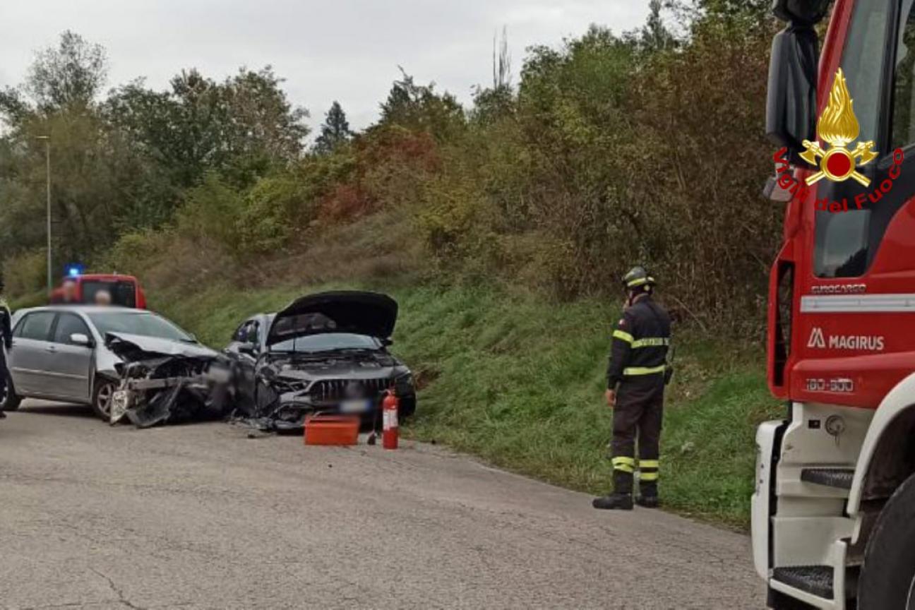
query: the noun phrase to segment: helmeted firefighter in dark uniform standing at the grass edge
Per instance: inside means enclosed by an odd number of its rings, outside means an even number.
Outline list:
[[[627,301],[613,331],[607,368],[607,404],[613,409],[613,493],[594,508],[632,509],[632,479],[639,470],[636,503],[658,506],[659,444],[671,318],[652,298],[654,278],[643,267],[623,276]],[[636,437],[639,459],[635,458]]]

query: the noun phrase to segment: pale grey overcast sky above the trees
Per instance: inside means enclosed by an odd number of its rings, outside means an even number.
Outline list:
[[[0,0],[0,87],[22,81],[38,48],[71,29],[102,44],[109,85],[146,77],[165,89],[182,68],[221,80],[274,66],[319,123],[339,100],[365,127],[399,76],[435,80],[467,102],[491,82],[492,37],[508,27],[512,68],[524,48],[558,46],[591,23],[639,27],[647,0]],[[515,79],[517,81],[517,78]]]

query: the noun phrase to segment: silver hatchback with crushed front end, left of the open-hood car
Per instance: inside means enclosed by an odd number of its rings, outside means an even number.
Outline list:
[[[58,305],[16,312],[14,325],[7,411],[41,398],[141,427],[231,411],[227,359],[152,312]]]

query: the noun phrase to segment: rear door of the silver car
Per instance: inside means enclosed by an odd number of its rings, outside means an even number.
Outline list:
[[[16,324],[8,367],[13,387],[20,396],[54,395],[47,367],[52,352],[56,350],[50,341],[55,316],[57,313],[54,311],[33,311]]]

